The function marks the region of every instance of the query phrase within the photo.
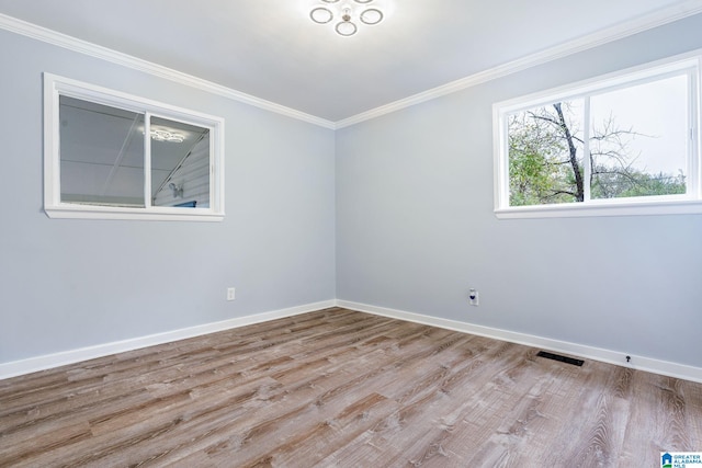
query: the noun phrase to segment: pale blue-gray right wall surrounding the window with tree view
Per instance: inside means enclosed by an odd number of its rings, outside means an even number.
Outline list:
[[[702,15],[338,130],[337,297],[702,366],[702,216],[498,220],[491,140],[492,103],[700,48],[700,31]]]

